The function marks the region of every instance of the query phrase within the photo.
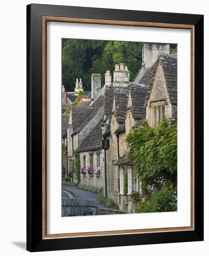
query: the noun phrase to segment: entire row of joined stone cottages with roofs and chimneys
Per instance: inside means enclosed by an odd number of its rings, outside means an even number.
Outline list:
[[[164,118],[177,118],[177,55],[169,54],[168,44],[145,43],[142,66],[133,81],[128,67],[116,64],[113,81],[110,71],[106,71],[102,88],[101,74],[91,75],[90,97],[71,108],[67,125],[68,157],[63,162],[67,162],[68,172],[75,181],[73,151],[78,149],[81,167],[94,170],[93,174],[81,174],[81,183],[103,187],[104,194],[121,210],[132,212],[129,195],[143,191],[127,158],[126,135],[144,121],[157,126]],[[63,135],[66,139],[64,131]],[[109,140],[108,150],[102,149],[102,139]],[[96,175],[97,168],[100,174]]]

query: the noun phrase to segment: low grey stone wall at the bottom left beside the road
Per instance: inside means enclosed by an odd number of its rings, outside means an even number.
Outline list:
[[[62,199],[62,217],[95,215],[97,208],[97,201],[77,198]]]

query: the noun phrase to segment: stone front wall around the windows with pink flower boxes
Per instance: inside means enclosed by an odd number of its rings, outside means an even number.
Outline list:
[[[100,153],[100,176],[95,174],[95,168],[97,168],[97,153]],[[89,186],[94,186],[96,188],[103,187],[103,151],[96,152],[81,152],[80,153],[80,161],[81,167],[84,167],[83,164],[83,156],[86,156],[86,167],[90,166],[90,154],[93,154],[93,163],[94,163],[94,174],[93,176],[87,174],[81,174],[81,184],[86,184]]]

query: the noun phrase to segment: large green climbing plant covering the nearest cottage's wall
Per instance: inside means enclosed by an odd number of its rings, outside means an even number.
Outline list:
[[[128,157],[144,184],[159,176],[175,182],[177,175],[177,121],[162,121],[158,127],[147,123],[126,137]]]

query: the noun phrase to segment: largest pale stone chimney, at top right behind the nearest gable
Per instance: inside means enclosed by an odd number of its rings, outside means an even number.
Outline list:
[[[146,69],[152,67],[155,61],[157,61],[158,53],[169,54],[169,44],[144,43],[142,49],[142,65],[145,65]]]

